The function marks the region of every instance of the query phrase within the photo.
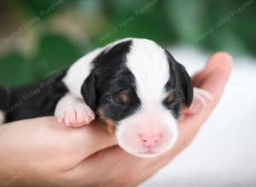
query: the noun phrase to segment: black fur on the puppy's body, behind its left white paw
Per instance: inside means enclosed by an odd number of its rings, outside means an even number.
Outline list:
[[[53,116],[55,105],[67,93],[67,88],[61,81],[65,74],[65,72],[56,73],[30,87],[10,90],[6,96],[9,98],[9,105],[3,108],[6,122],[38,116]]]

